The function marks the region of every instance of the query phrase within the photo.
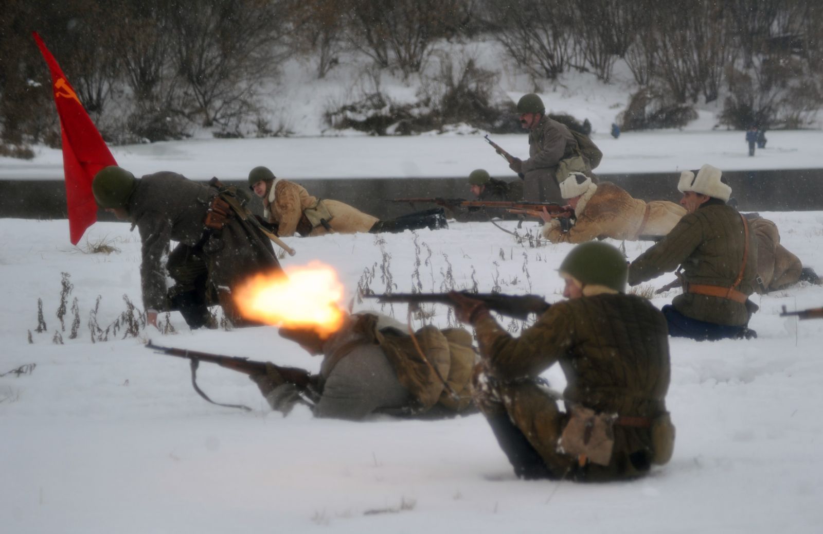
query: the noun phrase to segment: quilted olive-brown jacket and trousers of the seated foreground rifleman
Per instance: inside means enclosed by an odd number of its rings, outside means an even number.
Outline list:
[[[562,301],[552,304],[520,337],[512,337],[488,313],[477,319],[475,328],[485,365],[506,384],[500,398],[509,418],[555,478],[605,481],[649,470],[655,444],[652,431],[639,425],[614,426],[607,466],[581,468],[577,457],[560,453],[558,440],[568,415],[530,379],[559,362],[567,383],[566,412],[570,405],[579,405],[603,414],[665,417],[671,374],[666,319],[648,300],[600,294]]]

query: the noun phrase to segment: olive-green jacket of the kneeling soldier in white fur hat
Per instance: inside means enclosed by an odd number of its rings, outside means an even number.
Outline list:
[[[669,234],[629,267],[629,284],[651,280],[680,266],[686,284],[732,287],[740,272],[745,247],[740,213],[713,199],[684,216]],[[756,286],[757,239],[749,231],[746,268],[737,290],[751,295]],[[749,322],[746,304],[723,297],[684,292],[672,305],[686,317],[707,323],[744,326]]]

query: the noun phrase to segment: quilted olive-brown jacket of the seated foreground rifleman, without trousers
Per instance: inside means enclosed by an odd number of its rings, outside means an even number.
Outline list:
[[[537,377],[558,362],[566,402],[620,416],[654,418],[666,412],[671,375],[666,318],[648,300],[601,294],[561,301],[520,337],[487,313],[474,326],[481,354],[503,380]],[[612,462],[653,453],[648,428],[616,425],[614,433]]]

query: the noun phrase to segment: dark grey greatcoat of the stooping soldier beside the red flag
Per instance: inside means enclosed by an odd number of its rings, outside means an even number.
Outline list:
[[[205,229],[217,194],[216,188],[171,172],[137,180],[127,211],[132,229],[136,226],[142,239],[140,277],[146,309],[167,309],[165,257],[171,240],[179,243],[172,258],[184,258],[175,262],[176,270],[190,270],[183,264],[185,258],[194,258],[193,268],[202,268],[210,289],[220,294],[255,273],[280,270],[271,242],[236,216],[230,216],[222,230]],[[179,279],[174,270],[170,274]]]

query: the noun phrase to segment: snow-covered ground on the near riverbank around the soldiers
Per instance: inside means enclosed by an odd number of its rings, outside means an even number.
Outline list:
[[[705,161],[718,164],[689,165]],[[823,273],[823,212],[764,215],[789,250]],[[98,295],[103,328],[125,311],[123,295],[142,308],[140,245],[122,223],[97,223],[86,237],[117,250],[83,252],[85,239],[72,247],[66,221],[0,220],[0,373],[36,364],[30,374],[0,378],[0,532],[820,532],[823,321],[780,318],[779,309],[821,306],[823,287],[755,296],[756,340],[671,341],[667,404],[677,447],[667,466],[627,483],[526,482],[514,478],[479,415],[349,423],[314,420],[298,407],[283,418],[244,375],[201,365],[201,387],[218,402],[254,408],[244,413],[202,401],[188,362],[143,346],[151,339],[318,368],[274,327],[190,332],[172,313],[174,334],[150,327],[137,338],[120,339],[121,330],[92,342]],[[489,223],[381,237],[286,239],[298,253],[282,262],[332,265],[346,302],[358,282],[382,292],[476,281],[479,290],[496,284],[561,298],[556,268],[569,245],[518,244]],[[628,257],[646,246],[626,244]],[[65,331],[56,317],[62,272],[73,285]],[[662,306],[675,294],[653,302]],[[75,298],[79,327],[69,339]],[[39,299],[42,333],[35,332]],[[435,311],[435,323],[446,326],[446,309]],[[393,313],[406,318],[401,307]],[[56,332],[63,344],[55,344]],[[563,386],[558,369],[546,378]]]

